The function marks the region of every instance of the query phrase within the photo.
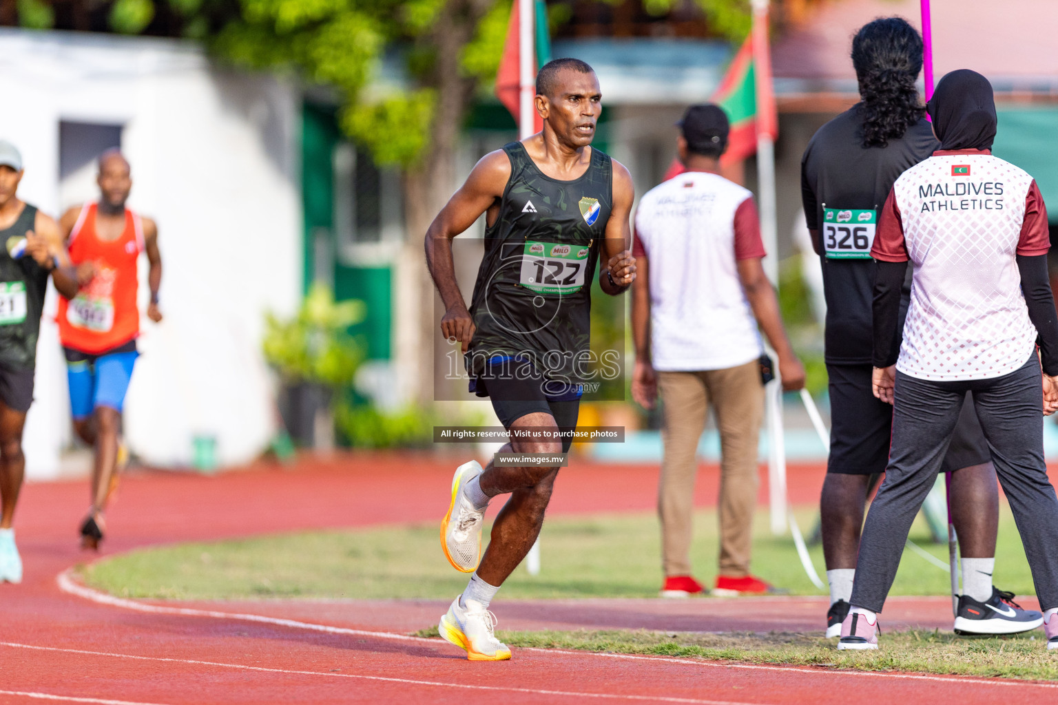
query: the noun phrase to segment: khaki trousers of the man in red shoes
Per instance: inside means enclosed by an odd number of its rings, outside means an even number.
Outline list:
[[[756,447],[764,418],[760,364],[754,359],[726,370],[658,372],[658,389],[664,402],[658,487],[664,574],[691,574],[696,454],[711,403],[720,435],[719,574],[749,575]]]

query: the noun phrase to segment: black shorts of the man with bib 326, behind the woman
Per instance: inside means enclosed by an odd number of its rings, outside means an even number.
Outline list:
[[[871,392],[870,365],[827,365],[831,382],[831,453],[827,472],[874,475],[889,464],[893,407]],[[991,462],[969,393],[963,403],[941,471]]]

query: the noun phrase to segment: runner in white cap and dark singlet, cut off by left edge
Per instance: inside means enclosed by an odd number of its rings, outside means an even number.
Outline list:
[[[0,582],[22,581],[15,545],[15,505],[25,457],[22,427],[33,404],[37,335],[48,276],[63,296],[77,281],[55,221],[17,196],[22,156],[0,141]]]

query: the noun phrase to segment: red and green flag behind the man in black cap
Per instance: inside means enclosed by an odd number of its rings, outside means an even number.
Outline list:
[[[728,115],[731,132],[722,166],[742,162],[756,153],[758,134],[772,140],[779,134],[776,94],[771,88],[771,58],[768,50],[768,23],[753,22],[753,30],[734,55],[720,85],[710,97]],[[665,180],[683,172],[679,160],[673,162]]]

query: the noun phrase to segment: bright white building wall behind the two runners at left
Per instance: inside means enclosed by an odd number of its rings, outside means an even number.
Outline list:
[[[160,324],[142,319],[126,403],[131,450],[182,466],[196,435],[221,465],[244,463],[275,428],[260,354],[266,311],[302,293],[300,94],[266,75],[218,69],[191,44],[0,31],[0,137],[22,151],[19,194],[45,212],[95,198],[84,170],[59,180],[61,120],[123,125],[129,206],[153,218],[164,263]],[[141,311],[146,310],[141,262]],[[70,440],[55,294],[37,350],[24,448],[33,478],[54,477]]]

